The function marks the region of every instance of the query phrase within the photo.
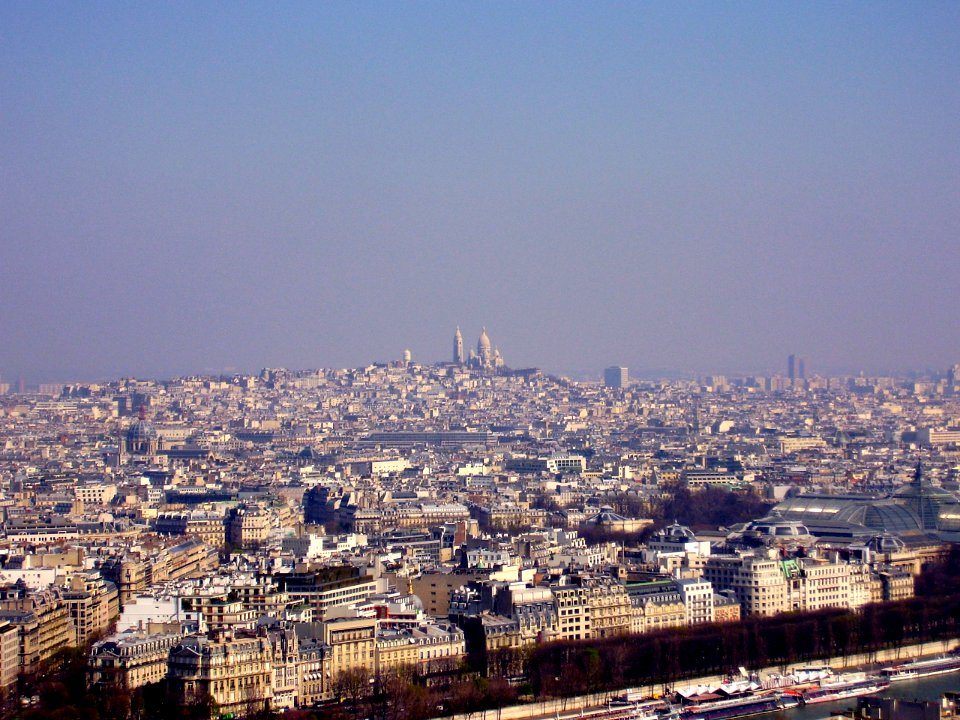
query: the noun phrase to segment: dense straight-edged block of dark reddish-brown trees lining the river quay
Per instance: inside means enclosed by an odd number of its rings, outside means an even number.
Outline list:
[[[876,653],[956,637],[960,595],[822,610],[641,636],[537,647],[527,663],[536,695],[567,696],[633,685],[671,686],[740,666],[768,667]]]

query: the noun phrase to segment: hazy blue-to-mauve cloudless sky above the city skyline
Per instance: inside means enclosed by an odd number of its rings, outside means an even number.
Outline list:
[[[960,3],[0,3],[0,376],[960,362]]]

